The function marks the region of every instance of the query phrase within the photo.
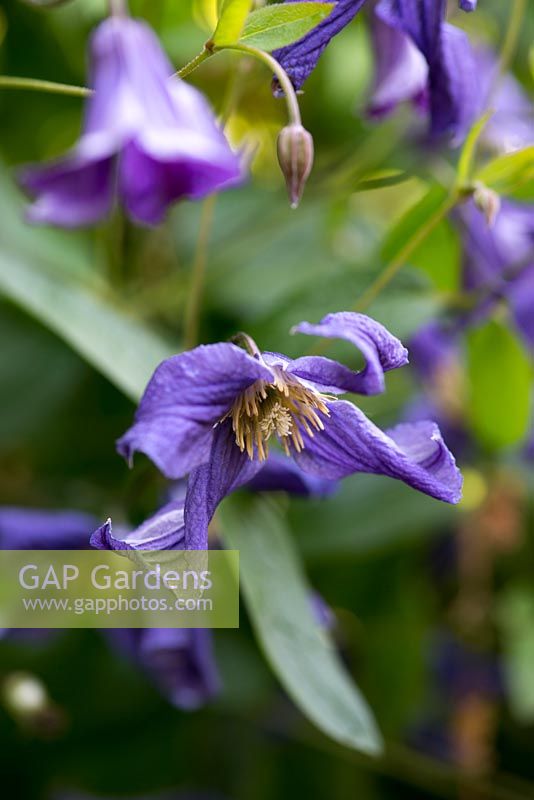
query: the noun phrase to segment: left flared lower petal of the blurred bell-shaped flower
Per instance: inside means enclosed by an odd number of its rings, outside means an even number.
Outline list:
[[[114,159],[91,159],[73,152],[42,167],[26,167],[19,179],[36,202],[28,209],[31,222],[75,228],[106,217],[113,204]]]

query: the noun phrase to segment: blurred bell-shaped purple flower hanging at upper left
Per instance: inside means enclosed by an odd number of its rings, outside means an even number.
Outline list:
[[[33,222],[90,225],[111,211],[115,194],[137,222],[161,222],[168,206],[197,199],[241,177],[203,96],[173,75],[143,22],[110,17],[93,34],[83,135],[65,158],[27,168],[36,196]]]

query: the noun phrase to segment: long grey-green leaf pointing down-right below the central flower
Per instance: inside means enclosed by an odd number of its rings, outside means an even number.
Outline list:
[[[376,755],[373,717],[314,619],[311,589],[280,515],[265,498],[231,497],[221,509],[224,539],[240,551],[241,580],[258,639],[301,711],[336,741]]]

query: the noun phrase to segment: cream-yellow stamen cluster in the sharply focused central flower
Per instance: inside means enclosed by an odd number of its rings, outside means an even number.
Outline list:
[[[328,417],[326,395],[303,386],[297,378],[275,367],[272,383],[256,381],[234,401],[224,419],[231,418],[236,444],[241,452],[260,461],[269,455],[268,441],[276,436],[286,455],[290,447],[297,453],[304,449],[301,428],[309,436],[324,430],[320,414]]]

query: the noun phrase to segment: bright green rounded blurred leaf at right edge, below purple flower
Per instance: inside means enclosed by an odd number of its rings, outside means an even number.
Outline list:
[[[467,344],[473,432],[490,450],[517,444],[530,419],[532,375],[527,354],[499,322],[472,331]]]

